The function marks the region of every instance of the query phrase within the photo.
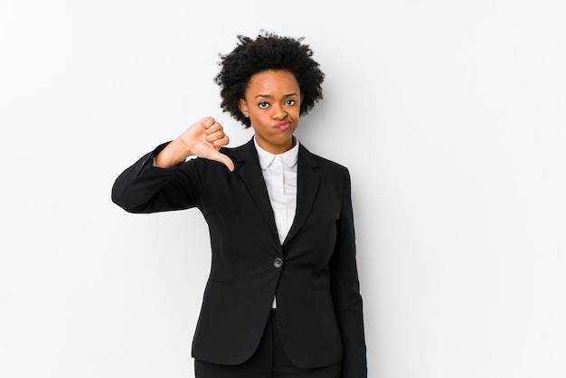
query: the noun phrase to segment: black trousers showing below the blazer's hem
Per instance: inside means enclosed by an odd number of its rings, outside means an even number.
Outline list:
[[[271,311],[258,350],[239,365],[210,364],[194,360],[196,378],[340,378],[342,364],[299,369],[290,363],[278,333],[277,310]]]

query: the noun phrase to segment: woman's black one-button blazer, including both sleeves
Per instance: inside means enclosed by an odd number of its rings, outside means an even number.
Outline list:
[[[233,172],[202,158],[158,168],[152,161],[165,145],[118,176],[112,201],[130,213],[197,207],[208,222],[212,268],[193,357],[245,362],[276,295],[279,332],[293,364],[307,369],[342,360],[344,378],[366,377],[348,170],[299,146],[297,214],[281,245],[252,140],[221,149]]]

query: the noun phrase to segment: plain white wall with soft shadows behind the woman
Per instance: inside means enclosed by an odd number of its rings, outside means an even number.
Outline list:
[[[203,217],[110,188],[204,116],[251,137],[213,77],[267,29],[326,74],[297,136],[351,170],[370,377],[566,377],[565,20],[562,0],[0,0],[0,376],[193,376]]]

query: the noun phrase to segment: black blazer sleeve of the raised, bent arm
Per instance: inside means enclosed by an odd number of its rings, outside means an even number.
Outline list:
[[[128,213],[157,213],[198,206],[203,159],[171,168],[154,165],[164,143],[129,166],[112,186],[111,199]]]

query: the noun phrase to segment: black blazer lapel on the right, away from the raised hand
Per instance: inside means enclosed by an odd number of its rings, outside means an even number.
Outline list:
[[[307,222],[320,184],[320,177],[316,174],[317,167],[318,165],[315,159],[307,148],[303,145],[299,145],[297,161],[297,211],[295,213],[295,220],[291,225],[287,238],[283,241],[283,245],[293,239],[301,227],[303,227],[303,224]]]

